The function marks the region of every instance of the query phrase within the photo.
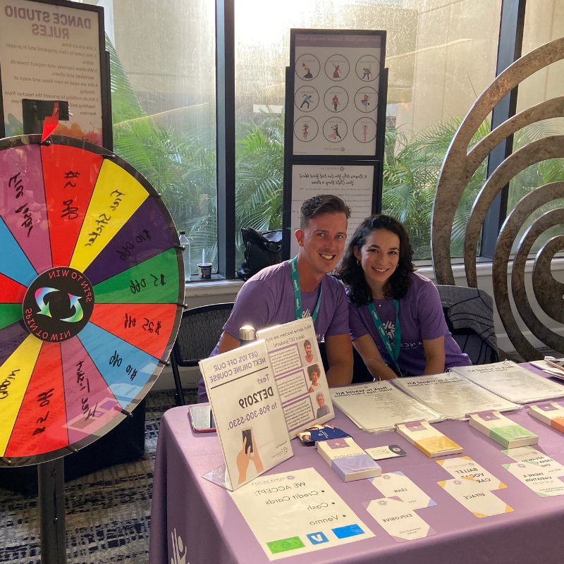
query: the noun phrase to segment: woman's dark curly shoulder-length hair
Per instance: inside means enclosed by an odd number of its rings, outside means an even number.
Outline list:
[[[395,218],[384,214],[370,216],[358,226],[355,234],[350,239],[347,250],[343,255],[343,262],[339,274],[345,284],[349,286],[348,297],[356,305],[367,305],[372,302],[372,293],[364,278],[362,266],[357,264],[354,254],[355,247],[359,250],[366,245],[370,233],[378,229],[386,229],[396,233],[400,238],[400,259],[398,267],[388,278],[384,286],[386,298],[391,296],[394,300],[401,300],[407,294],[410,283],[410,274],[415,271],[413,266],[413,249],[405,227]]]

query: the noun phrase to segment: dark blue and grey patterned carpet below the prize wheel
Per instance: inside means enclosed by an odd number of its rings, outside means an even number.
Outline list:
[[[185,391],[194,403],[197,391]],[[159,422],[173,391],[147,395],[145,457],[65,485],[68,564],[145,564]],[[0,563],[40,564],[37,497],[0,488]]]

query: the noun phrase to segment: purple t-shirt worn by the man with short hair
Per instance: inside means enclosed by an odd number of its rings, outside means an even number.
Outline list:
[[[311,317],[321,287],[323,294],[315,320],[318,343],[326,335],[345,335],[349,332],[345,288],[329,274],[325,275],[314,292],[302,292],[303,317]],[[295,321],[294,289],[290,262],[286,261],[267,266],[243,284],[223,331],[238,339],[239,329],[243,325],[250,325],[258,331],[290,321]],[[210,356],[216,355],[218,349],[219,343]],[[198,383],[198,402],[204,401],[207,401],[207,394],[204,379],[201,378]]]

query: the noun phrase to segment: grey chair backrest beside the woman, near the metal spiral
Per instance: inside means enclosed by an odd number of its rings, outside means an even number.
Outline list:
[[[494,301],[478,288],[438,285],[448,330],[472,364],[499,360]]]

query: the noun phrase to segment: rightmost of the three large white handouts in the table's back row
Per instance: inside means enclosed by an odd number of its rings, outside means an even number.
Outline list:
[[[453,372],[515,403],[564,397],[564,386],[510,360],[495,364],[454,367]]]

